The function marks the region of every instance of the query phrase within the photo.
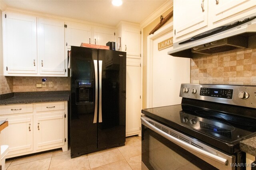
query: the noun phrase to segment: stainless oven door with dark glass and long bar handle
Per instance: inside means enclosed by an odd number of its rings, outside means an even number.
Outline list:
[[[142,116],[142,170],[233,170],[236,156],[224,154]],[[239,169],[239,168],[238,168]]]

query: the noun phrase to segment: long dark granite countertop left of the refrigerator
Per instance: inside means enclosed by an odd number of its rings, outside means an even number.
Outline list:
[[[68,101],[69,92],[47,91],[47,92],[14,92],[0,95],[0,104],[24,104],[37,102]]]

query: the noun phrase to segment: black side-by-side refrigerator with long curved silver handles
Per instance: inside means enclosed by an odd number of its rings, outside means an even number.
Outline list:
[[[126,129],[126,53],[71,46],[71,158],[122,146]]]

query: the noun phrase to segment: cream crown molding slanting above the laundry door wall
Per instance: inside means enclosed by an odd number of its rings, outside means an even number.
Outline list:
[[[168,0],[165,2],[160,8],[158,8],[152,15],[150,15],[148,18],[146,18],[142,23],[140,23],[140,28],[143,29],[148,24],[150,24],[152,21],[157,19],[159,16],[161,16],[164,12],[166,12],[168,9],[170,9],[173,6],[173,0]]]

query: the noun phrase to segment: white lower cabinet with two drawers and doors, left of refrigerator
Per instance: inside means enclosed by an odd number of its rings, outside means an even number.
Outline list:
[[[28,112],[24,113],[24,108],[29,108]],[[1,121],[8,120],[8,127],[1,131],[1,145],[9,146],[6,158],[57,148],[68,150],[67,101],[2,105],[0,111]]]

